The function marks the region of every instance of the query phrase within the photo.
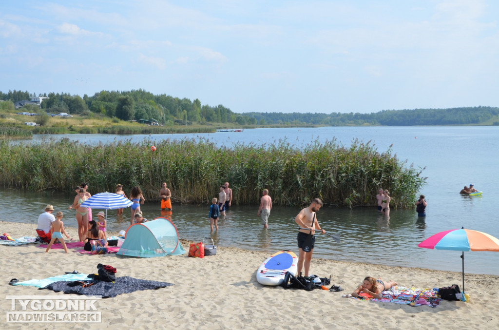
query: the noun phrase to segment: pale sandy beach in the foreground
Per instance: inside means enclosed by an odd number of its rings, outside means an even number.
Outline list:
[[[0,222],[2,232],[13,238],[34,236],[35,225]],[[76,236],[75,228],[66,228]],[[108,233],[112,234],[112,233]],[[188,250],[189,242],[183,241]],[[43,279],[77,270],[96,273],[102,263],[117,269],[116,276],[173,283],[158,290],[136,291],[99,300],[96,308],[102,323],[37,324],[37,329],[499,329],[499,302],[495,299],[499,276],[466,275],[469,303],[442,301],[437,308],[411,307],[342,298],[365,276],[393,279],[416,288],[461,286],[461,273],[419,268],[312,259],[311,273],[331,276],[331,285],[344,292],[284,290],[256,282],[256,269],[268,254],[238,248],[218,248],[216,256],[189,258],[128,258],[115,254],[93,256],[63,250],[44,253],[38,244],[0,246],[1,324],[6,329],[27,329],[27,323],[6,323],[13,295],[72,295],[10,286],[19,281]],[[296,251],[297,253],[297,251]]]

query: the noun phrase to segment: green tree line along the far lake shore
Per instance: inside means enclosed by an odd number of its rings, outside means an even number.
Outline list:
[[[381,110],[372,113],[311,113],[311,112],[244,112],[235,113],[219,104],[202,104],[199,99],[154,95],[142,89],[100,91],[93,96],[69,93],[29,93],[0,91],[0,111],[13,112],[14,103],[31,97],[48,97],[41,102],[47,113],[66,112],[88,115],[98,113],[120,120],[157,120],[162,125],[192,122],[199,124],[227,123],[241,126],[258,125],[324,125],[324,126],[427,126],[427,125],[499,125],[499,108],[490,106],[446,109]],[[22,110],[36,112],[38,106],[26,105]],[[256,109],[255,109],[256,110]]]

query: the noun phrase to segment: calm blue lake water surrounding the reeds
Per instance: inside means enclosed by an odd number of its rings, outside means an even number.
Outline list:
[[[317,235],[315,257],[354,262],[367,262],[389,266],[408,266],[461,271],[460,252],[418,248],[424,239],[438,232],[465,227],[499,237],[499,200],[496,174],[499,157],[499,127],[320,127],[320,128],[268,128],[246,129],[243,132],[211,134],[156,134],[156,135],[64,135],[33,137],[33,143],[46,139],[67,137],[88,144],[114,140],[143,141],[154,144],[161,139],[205,138],[231,147],[234,143],[274,143],[282,139],[303,146],[316,139],[336,138],[349,144],[357,138],[372,141],[380,152],[393,144],[393,152],[407,166],[426,167],[423,175],[427,185],[420,193],[428,200],[427,217],[418,219],[415,210],[392,209],[390,219],[378,215],[376,209],[322,208],[318,214],[322,228],[341,236],[335,243],[325,235]],[[20,142],[24,143],[24,142]],[[483,191],[481,197],[462,196],[465,185],[474,184]],[[173,187],[173,194],[175,190]],[[92,194],[97,193],[92,191]],[[270,195],[272,193],[270,192]],[[0,191],[3,202],[0,220],[36,223],[42,208],[50,203],[56,211],[65,211],[67,226],[76,226],[74,211],[67,207],[74,196],[60,192],[28,193],[14,190]],[[313,197],[313,196],[311,196]],[[397,198],[393,196],[393,198]],[[327,203],[327,201],[325,201]],[[210,234],[208,205],[174,204],[171,218],[181,238],[200,241],[212,237],[219,246],[273,253],[282,249],[297,252],[297,226],[294,217],[298,207],[274,207],[269,218],[269,229],[262,230],[257,207],[234,205],[227,218],[219,222],[220,231]],[[159,203],[142,206],[149,220],[161,215]],[[94,216],[98,210],[94,210]],[[116,217],[108,211],[110,230],[125,230],[130,211],[125,217]],[[184,247],[187,248],[187,247]],[[313,265],[312,265],[313,266]],[[255,265],[255,268],[257,265]],[[499,253],[465,253],[467,273],[499,275]],[[456,279],[459,280],[459,279]]]

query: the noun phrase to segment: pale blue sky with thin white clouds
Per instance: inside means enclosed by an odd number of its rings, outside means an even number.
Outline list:
[[[4,0],[0,91],[235,112],[498,106],[494,0]]]

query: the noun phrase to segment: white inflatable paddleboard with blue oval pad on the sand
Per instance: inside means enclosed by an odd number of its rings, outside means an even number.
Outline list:
[[[298,258],[292,251],[279,251],[268,257],[256,272],[259,284],[277,286],[284,282],[287,272],[296,275]]]

